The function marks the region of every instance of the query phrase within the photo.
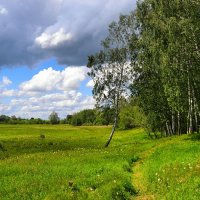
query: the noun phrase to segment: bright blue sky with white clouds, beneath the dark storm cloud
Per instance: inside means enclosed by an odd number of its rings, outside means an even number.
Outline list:
[[[62,73],[67,69],[75,70],[77,73],[72,73],[70,77],[65,76]],[[49,71],[52,74],[49,74]],[[27,66],[2,68],[0,71],[1,114],[46,119],[55,110],[61,118],[64,118],[67,114],[93,108],[95,102],[92,98],[92,87],[87,86],[90,82],[87,71],[85,66],[59,65],[55,58],[43,61],[34,68]],[[40,75],[41,73],[43,74]],[[34,77],[37,78],[37,82],[33,81]],[[71,81],[62,85],[65,79],[69,78]],[[47,84],[48,79],[52,80],[50,84]],[[57,81],[58,79],[61,80]],[[47,82],[42,83],[43,80]],[[55,83],[58,85],[54,87]],[[50,88],[46,89],[46,87]]]

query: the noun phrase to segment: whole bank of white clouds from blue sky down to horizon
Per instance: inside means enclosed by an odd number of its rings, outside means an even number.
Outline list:
[[[63,118],[67,114],[93,108],[93,97],[79,89],[87,78],[86,67],[74,66],[60,71],[52,67],[44,69],[15,90],[3,87],[0,97],[4,103],[0,102],[0,113],[47,119],[52,111]],[[3,80],[5,84],[11,82],[8,78]]]

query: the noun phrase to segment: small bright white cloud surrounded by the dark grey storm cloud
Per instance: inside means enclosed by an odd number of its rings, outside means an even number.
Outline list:
[[[57,47],[66,41],[72,39],[71,33],[65,33],[63,28],[55,33],[43,32],[39,37],[35,39],[35,42],[43,49]]]

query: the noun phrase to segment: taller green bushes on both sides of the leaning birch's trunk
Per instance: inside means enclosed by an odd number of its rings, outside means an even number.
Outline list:
[[[115,110],[105,107],[102,109],[85,109],[73,115],[67,115],[66,124],[73,126],[101,126],[114,123]],[[123,102],[123,108],[119,114],[118,128],[122,130],[135,127],[144,127],[146,118],[135,101]]]

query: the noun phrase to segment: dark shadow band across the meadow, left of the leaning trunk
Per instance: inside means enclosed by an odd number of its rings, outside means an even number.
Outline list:
[[[64,140],[64,139],[46,139],[38,138],[34,140],[9,140],[0,141],[0,160],[12,156],[19,156],[31,153],[45,153],[55,151],[74,151],[81,149],[102,149],[103,142],[97,143],[95,140]]]

